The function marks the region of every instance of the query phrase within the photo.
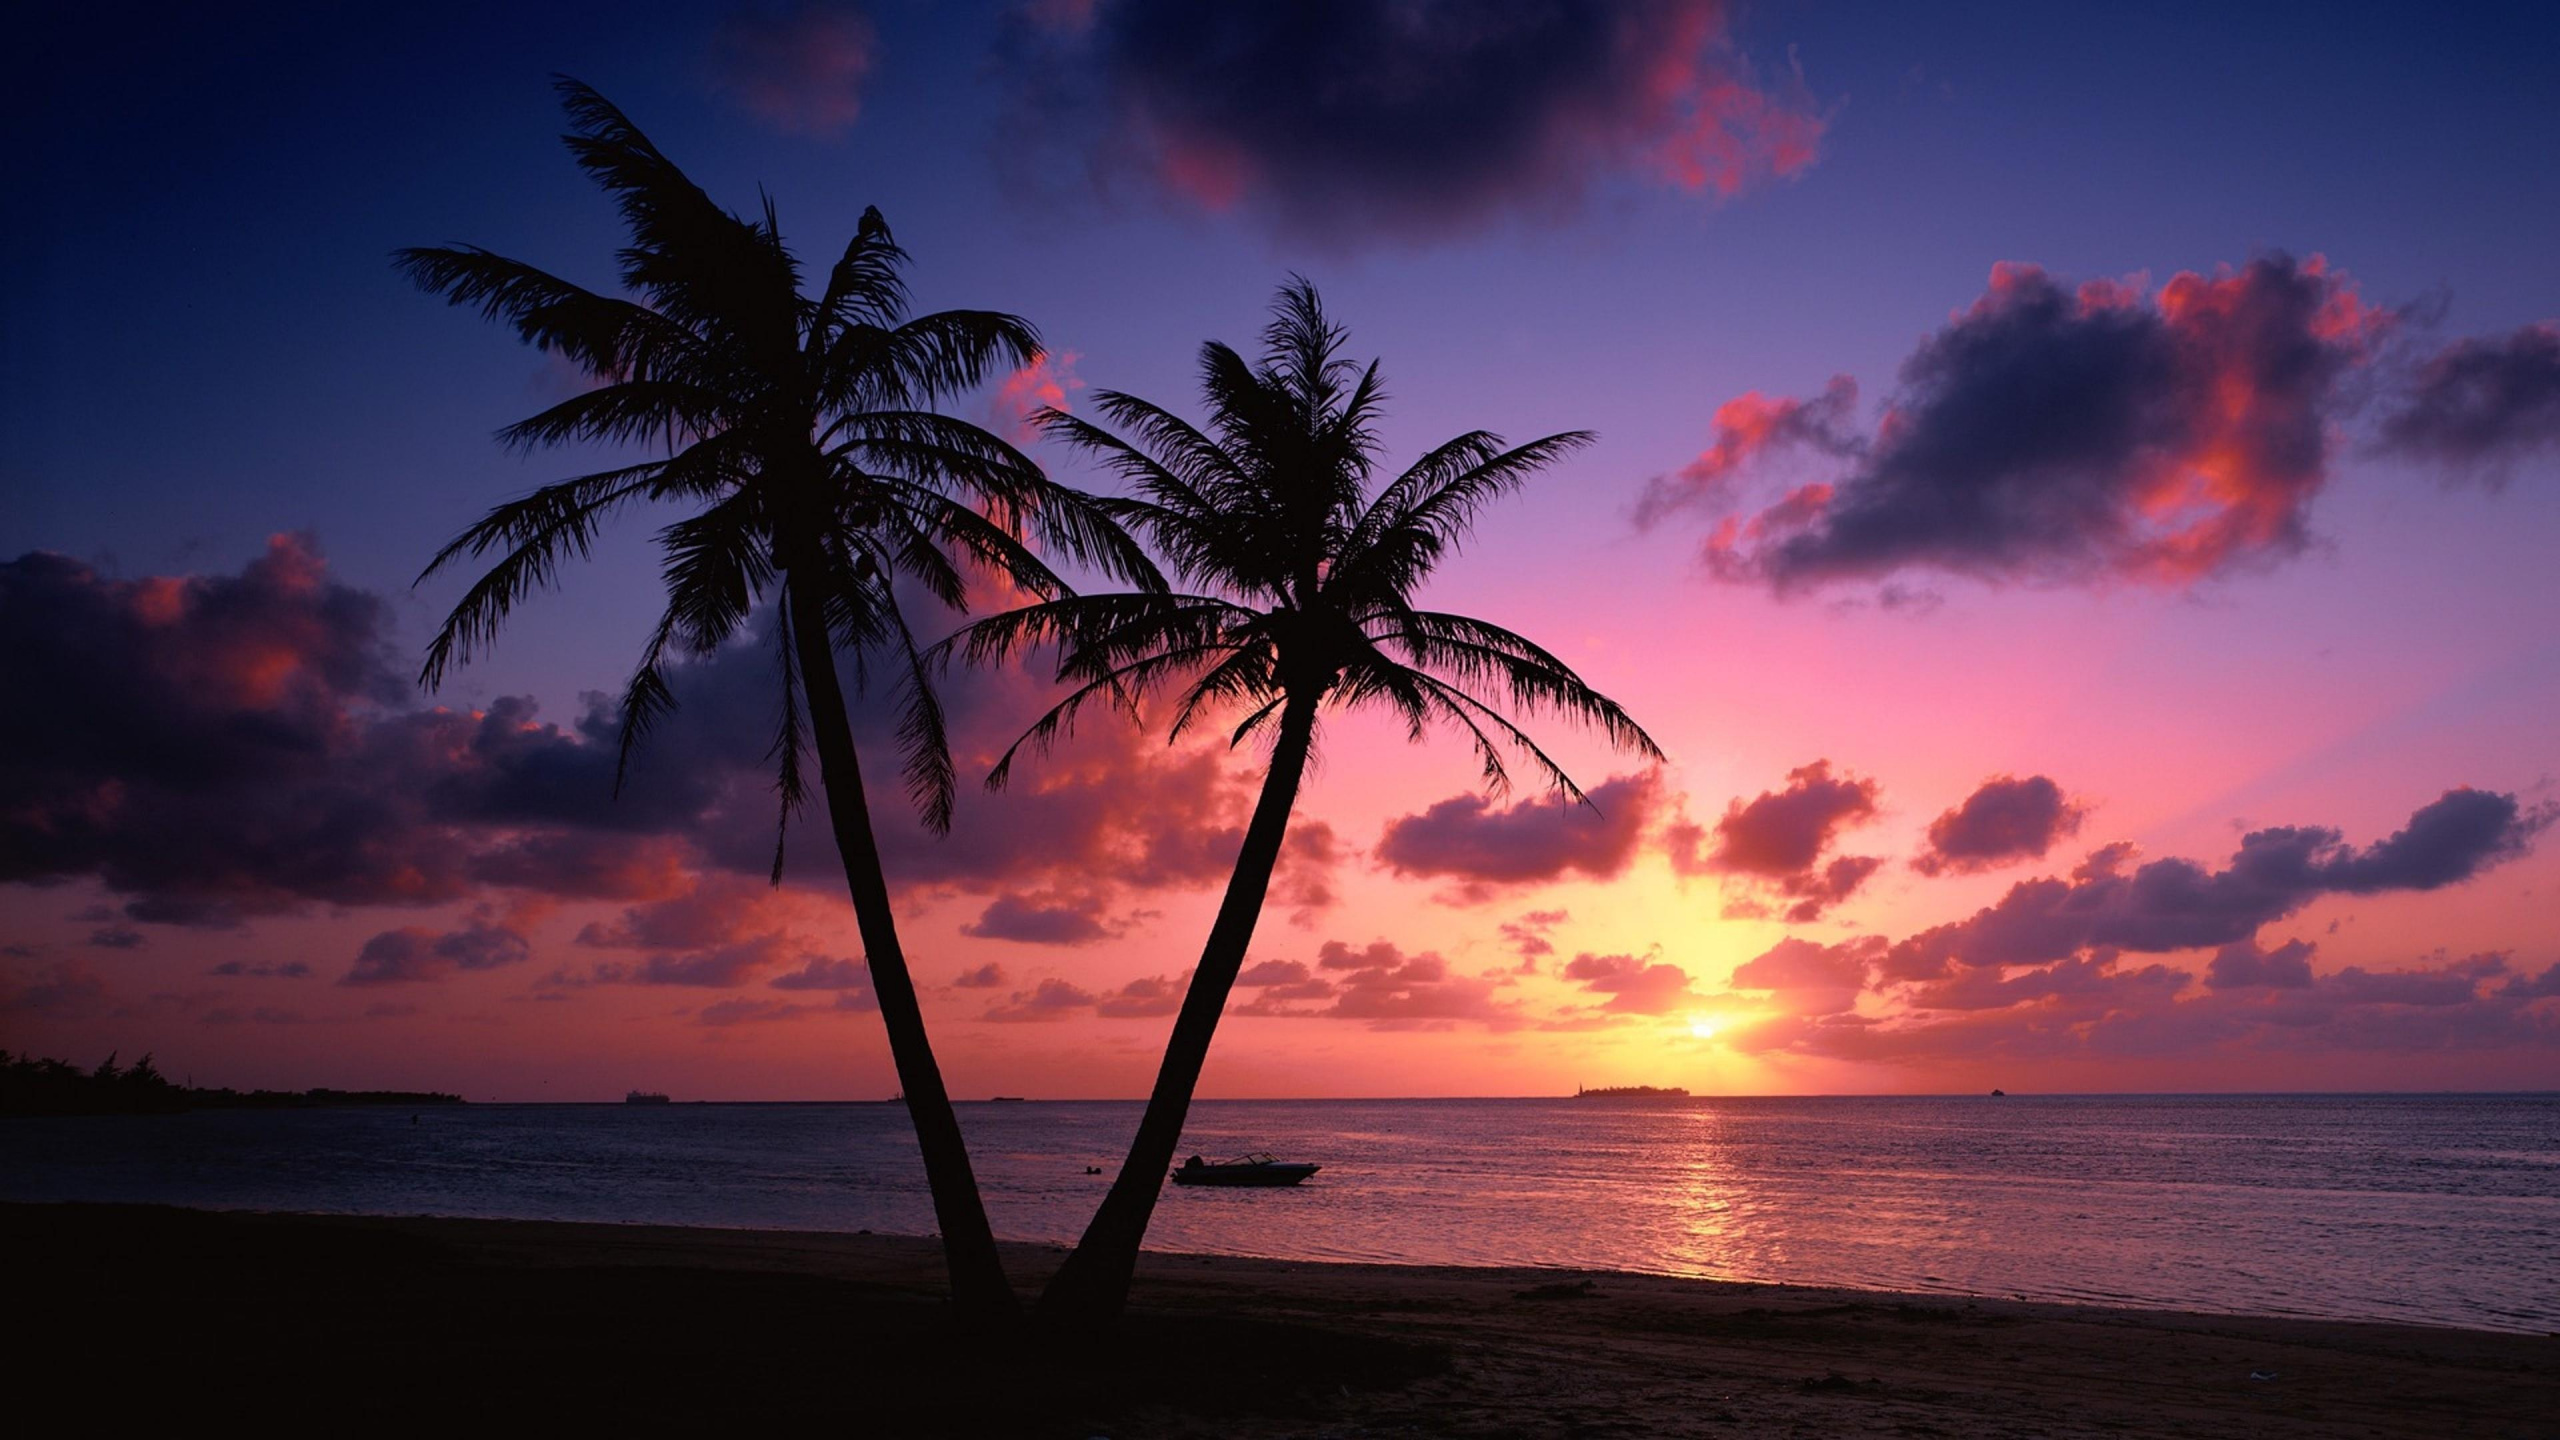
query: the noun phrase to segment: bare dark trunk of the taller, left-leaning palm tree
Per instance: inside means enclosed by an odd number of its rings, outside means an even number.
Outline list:
[[[796,577],[794,577],[796,579]],[[835,648],[819,597],[804,584],[791,587],[791,646],[799,653],[801,689],[809,697],[809,738],[817,743],[819,779],[827,787],[827,820],[835,848],[845,858],[845,889],[852,892],[852,917],[863,933],[863,958],[870,966],[870,992],[881,999],[888,1025],[888,1056],[906,1089],[906,1117],[924,1153],[924,1179],[934,1191],[934,1220],[942,1225],[942,1258],[952,1273],[952,1299],[960,1317],[978,1327],[1006,1327],[1021,1317],[1021,1302],[1004,1279],[996,1232],[986,1222],[978,1176],[960,1140],[960,1117],[942,1089],[924,1035],[924,1010],[916,981],[906,974],[899,925],[888,912],[888,879],[881,874],[881,846],[870,833],[870,805],[863,799],[863,764],[852,751],[852,723],[845,717],[845,692],[835,676]]]

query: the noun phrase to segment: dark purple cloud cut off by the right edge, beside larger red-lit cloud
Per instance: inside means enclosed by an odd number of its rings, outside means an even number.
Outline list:
[[[2381,448],[2491,487],[2506,484],[2516,461],[2560,448],[2560,323],[2429,356],[2383,418]]]

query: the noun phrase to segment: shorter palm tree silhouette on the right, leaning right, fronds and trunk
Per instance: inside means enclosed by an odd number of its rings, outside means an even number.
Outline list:
[[[1262,797],[1147,1115],[1093,1225],[1042,1294],[1047,1322],[1108,1320],[1126,1304],[1139,1240],[1252,943],[1326,705],[1385,707],[1416,740],[1441,723],[1457,728],[1495,792],[1508,787],[1505,753],[1516,751],[1562,797],[1587,805],[1498,702],[1587,723],[1620,748],[1661,758],[1615,702],[1536,643],[1485,620],[1413,607],[1413,592],[1459,546],[1477,507],[1592,436],[1567,430],[1505,448],[1500,436],[1469,430],[1372,495],[1377,364],[1341,359],[1341,341],[1316,290],[1293,277],[1262,333],[1262,364],[1216,341],[1201,348],[1208,430],[1119,392],[1096,395],[1096,407],[1132,438],[1042,413],[1052,438],[1132,482],[1137,497],[1101,505],[1152,541],[1193,594],[1060,597],[947,641],[973,661],[1057,646],[1060,679],[1075,687],[1004,753],[991,787],[1006,781],[1024,746],[1044,751],[1091,702],[1134,717],[1147,694],[1172,694],[1170,738],[1213,710],[1242,712],[1234,743],[1270,735]]]

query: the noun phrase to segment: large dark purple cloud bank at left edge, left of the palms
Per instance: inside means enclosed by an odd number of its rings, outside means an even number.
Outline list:
[[[671,881],[671,840],[645,835],[696,822],[709,779],[614,805],[591,743],[609,715],[568,733],[522,697],[399,710],[387,625],[302,536],[215,577],[0,564],[0,671],[46,694],[0,710],[0,881],[90,876],[159,925]]]

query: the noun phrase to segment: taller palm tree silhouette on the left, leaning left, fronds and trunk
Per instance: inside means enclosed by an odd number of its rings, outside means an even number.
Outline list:
[[[1039,597],[1068,597],[1024,546],[1024,530],[1134,584],[1162,582],[1088,497],[934,410],[993,366],[1039,356],[1027,320],[986,310],[909,318],[899,279],[906,254],[878,210],[863,213],[824,292],[809,297],[771,197],[753,218],[722,210],[602,95],[573,79],[558,87],[568,149],[612,192],[630,231],[620,251],[627,297],[476,246],[404,249],[397,264],[422,290],[476,305],[596,382],[504,428],[504,443],[532,451],[591,441],[658,454],[509,500],[438,551],[420,579],[463,556],[499,559],[428,646],[420,684],[438,687],[453,664],[489,646],[520,600],[589,553],[612,515],[640,502],[686,507],[658,530],[666,612],[622,697],[620,789],[635,746],[676,705],[668,666],[727,646],[771,597],[763,630],[781,679],[773,881],[781,833],[806,799],[801,756],[814,748],[952,1294],[965,1317],[1001,1322],[1019,1304],[888,912],[837,653],[852,661],[858,684],[873,664],[888,666],[906,792],[927,825],[947,830],[952,758],[899,582],[955,610],[968,602],[968,566]]]

